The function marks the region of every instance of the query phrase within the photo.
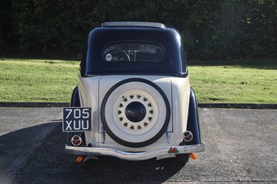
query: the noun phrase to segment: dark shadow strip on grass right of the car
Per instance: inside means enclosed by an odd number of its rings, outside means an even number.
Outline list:
[[[277,69],[277,59],[188,60],[188,66],[239,66],[242,68]]]

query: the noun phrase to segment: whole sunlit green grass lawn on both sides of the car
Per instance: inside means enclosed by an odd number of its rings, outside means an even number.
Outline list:
[[[80,62],[0,58],[1,102],[69,102]],[[277,59],[189,61],[198,102],[277,103]]]

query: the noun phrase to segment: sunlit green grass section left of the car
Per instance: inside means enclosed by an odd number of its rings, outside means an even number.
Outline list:
[[[0,59],[0,101],[69,102],[80,62]]]

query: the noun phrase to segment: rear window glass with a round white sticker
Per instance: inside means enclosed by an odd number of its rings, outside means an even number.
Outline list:
[[[151,43],[114,43],[105,46],[105,62],[163,62],[165,50]]]

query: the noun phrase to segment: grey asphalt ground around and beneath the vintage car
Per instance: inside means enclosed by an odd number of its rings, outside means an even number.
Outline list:
[[[199,109],[205,151],[177,165],[64,154],[62,109],[0,107],[0,183],[277,183],[276,109]]]

